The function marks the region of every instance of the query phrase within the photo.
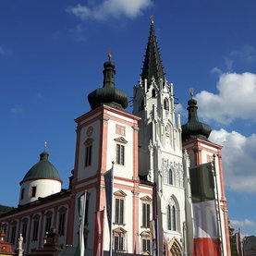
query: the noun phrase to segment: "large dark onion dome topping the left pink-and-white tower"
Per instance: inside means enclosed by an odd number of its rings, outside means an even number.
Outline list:
[[[104,63],[104,86],[98,88],[88,95],[88,101],[91,109],[106,104],[111,107],[125,110],[128,107],[128,96],[125,91],[115,87],[115,63],[110,60]]]

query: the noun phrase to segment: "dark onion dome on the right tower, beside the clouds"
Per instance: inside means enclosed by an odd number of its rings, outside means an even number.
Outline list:
[[[197,101],[190,99],[188,105],[189,118],[188,123],[182,126],[182,141],[193,139],[208,140],[212,128],[199,121]]]

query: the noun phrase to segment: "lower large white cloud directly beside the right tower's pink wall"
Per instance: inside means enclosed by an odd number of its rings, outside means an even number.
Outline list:
[[[256,134],[243,136],[224,128],[213,130],[210,140],[223,145],[226,187],[238,192],[256,193]]]

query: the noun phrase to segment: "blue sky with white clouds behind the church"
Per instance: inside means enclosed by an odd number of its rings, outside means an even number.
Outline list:
[[[102,86],[107,50],[116,86],[131,97],[153,15],[183,123],[193,87],[211,140],[224,145],[231,224],[256,235],[255,8],[254,0],[0,0],[0,203],[18,204],[18,184],[44,140],[67,188],[73,120]]]

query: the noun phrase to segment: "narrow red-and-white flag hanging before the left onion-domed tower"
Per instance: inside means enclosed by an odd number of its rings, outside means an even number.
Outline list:
[[[94,234],[94,256],[103,256],[104,245],[104,211],[99,211],[95,216],[95,234]]]

